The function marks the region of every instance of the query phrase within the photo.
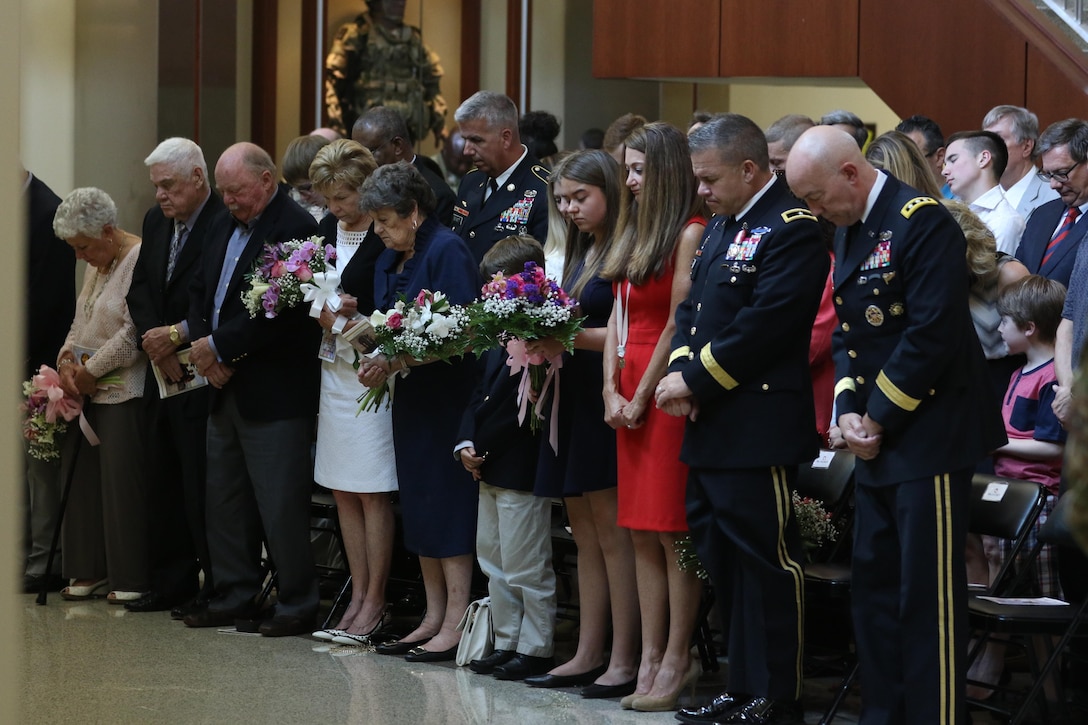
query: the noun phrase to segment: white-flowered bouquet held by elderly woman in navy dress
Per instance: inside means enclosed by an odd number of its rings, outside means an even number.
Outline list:
[[[442,360],[465,354],[469,318],[460,305],[450,305],[441,292],[420,290],[415,299],[399,296],[393,309],[374,310],[368,331],[381,354],[408,355],[417,360]],[[378,410],[390,394],[390,383],[371,388],[359,396],[359,413]]]

